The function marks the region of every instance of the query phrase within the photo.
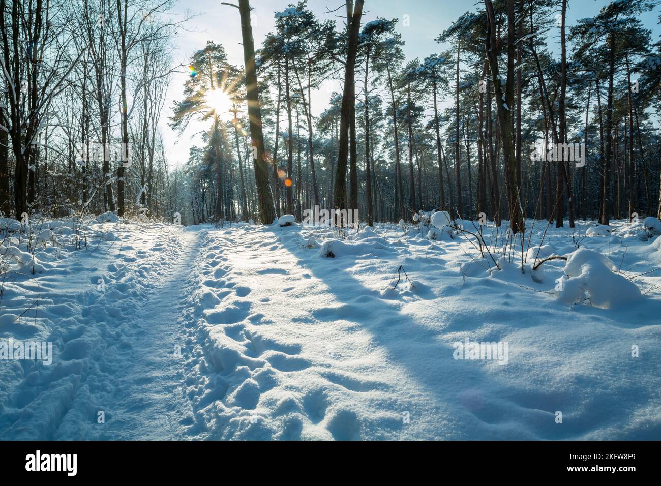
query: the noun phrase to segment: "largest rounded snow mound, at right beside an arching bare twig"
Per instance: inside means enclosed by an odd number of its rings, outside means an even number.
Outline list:
[[[614,273],[615,264],[594,250],[578,249],[556,280],[557,296],[563,304],[589,301],[595,307],[611,309],[641,298],[641,290],[627,278]]]

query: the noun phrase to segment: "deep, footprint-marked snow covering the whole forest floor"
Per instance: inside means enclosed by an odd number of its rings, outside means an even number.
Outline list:
[[[78,251],[71,222],[33,222],[34,255],[5,239],[0,341],[55,356],[0,360],[0,439],[661,438],[661,240],[642,223],[536,222],[522,273],[492,225],[481,257],[447,226],[112,219]],[[465,339],[507,362],[455,359]]]

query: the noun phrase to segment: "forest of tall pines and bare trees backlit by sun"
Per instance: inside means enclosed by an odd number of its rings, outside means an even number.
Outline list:
[[[447,210],[515,232],[526,218],[658,216],[661,44],[640,20],[658,3],[613,1],[566,24],[568,1],[485,1],[414,59],[406,17],[362,22],[356,1],[321,20],[290,4],[255,40],[259,159],[245,65],[219,40],[178,65],[189,19],[171,7],[2,1],[3,214],[270,223],[321,206],[371,224]],[[328,79],[342,92],[315,116]],[[173,167],[163,140],[191,120],[201,137]]]

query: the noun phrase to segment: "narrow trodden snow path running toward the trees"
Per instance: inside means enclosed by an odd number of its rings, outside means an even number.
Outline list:
[[[197,232],[182,231],[180,256],[167,262],[165,273],[131,316],[131,346],[119,352],[122,366],[110,377],[115,391],[106,405],[112,422],[99,438],[175,439],[187,411],[180,355],[181,315],[190,268],[198,254]],[[112,366],[108,363],[108,366]]]

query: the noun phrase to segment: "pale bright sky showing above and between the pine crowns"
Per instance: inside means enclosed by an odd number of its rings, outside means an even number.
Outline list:
[[[233,1],[233,0],[228,0]],[[255,46],[258,48],[264,36],[274,28],[273,14],[276,11],[286,9],[287,0],[252,0],[253,11],[253,34]],[[479,7],[482,6],[482,2]],[[568,24],[574,24],[577,19],[584,17],[593,17],[598,13],[603,5],[607,5],[605,0],[570,0],[568,9]],[[334,13],[328,11],[337,9],[344,5],[342,0],[309,0],[309,7],[317,13],[322,19],[332,18],[336,15],[342,15],[343,9]],[[385,17],[387,19],[403,19],[408,15],[410,26],[399,24],[399,32],[405,41],[403,47],[407,59],[424,58],[435,52],[440,52],[446,48],[434,41],[443,30],[445,30],[453,20],[456,20],[465,11],[475,11],[477,4],[473,1],[457,0],[366,0],[364,22],[369,22],[376,17]],[[243,48],[241,42],[241,29],[239,25],[239,11],[227,5],[221,5],[221,0],[197,0],[194,2],[179,1],[175,7],[175,13],[184,15],[186,11],[196,15],[188,22],[190,32],[181,32],[176,44],[178,49],[177,62],[187,63],[190,55],[204,47],[207,40],[214,40],[225,46],[229,61],[236,65],[243,64]],[[642,19],[646,28],[652,29],[652,38],[658,39],[661,32],[657,24],[658,12],[648,13]],[[338,19],[338,22],[341,22]],[[554,35],[554,34],[551,34]],[[555,39],[549,38],[550,42]],[[551,48],[554,48],[551,44]],[[165,123],[165,115],[171,114],[172,101],[180,99],[182,96],[182,84],[186,79],[187,73],[180,73],[175,76],[168,91],[167,110],[164,111],[161,126],[163,136],[166,142],[166,151],[169,155],[171,165],[180,165],[188,159],[188,148],[193,143],[201,143],[199,137],[192,140],[192,135],[200,130],[200,126],[194,126],[186,131],[184,136],[178,138],[177,134],[170,130]],[[339,81],[327,81],[313,95],[313,114],[325,109],[325,102],[329,99],[332,91],[340,91]],[[177,141],[178,139],[178,141]],[[176,143],[175,143],[176,142]]]

